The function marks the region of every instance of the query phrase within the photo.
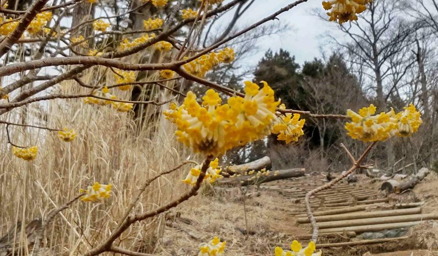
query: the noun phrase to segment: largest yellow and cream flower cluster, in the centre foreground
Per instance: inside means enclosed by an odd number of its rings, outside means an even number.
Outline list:
[[[275,110],[280,103],[274,90],[266,83],[245,82],[245,97],[234,96],[221,105],[219,94],[210,89],[203,97],[203,106],[196,94],[189,91],[178,108],[172,104],[164,112],[176,123],[178,141],[205,155],[219,156],[238,145],[264,138],[271,133]]]

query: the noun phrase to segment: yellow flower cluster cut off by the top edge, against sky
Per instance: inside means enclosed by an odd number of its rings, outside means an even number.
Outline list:
[[[356,14],[367,10],[365,5],[372,2],[372,0],[330,0],[323,2],[325,10],[330,10],[327,13],[330,16],[330,21],[338,21],[339,24],[349,20],[357,20]]]

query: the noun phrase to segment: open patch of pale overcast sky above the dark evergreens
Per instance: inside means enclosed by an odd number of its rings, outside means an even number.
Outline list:
[[[256,0],[244,17],[240,19],[239,27],[269,16],[290,3],[293,3],[293,1]],[[343,34],[336,29],[336,23],[330,23],[312,15],[312,9],[314,8],[324,11],[321,0],[309,0],[278,16],[281,22],[288,23],[291,26],[291,30],[280,36],[274,35],[259,39],[261,48],[256,55],[247,58],[247,64],[256,65],[269,48],[274,52],[280,48],[288,50],[291,55],[295,55],[296,61],[300,65],[304,61],[312,60],[314,57],[320,58],[320,46],[323,46],[324,50],[330,51],[331,46],[327,45],[323,35],[327,31],[339,36],[343,36]],[[269,22],[278,23],[277,20]]]

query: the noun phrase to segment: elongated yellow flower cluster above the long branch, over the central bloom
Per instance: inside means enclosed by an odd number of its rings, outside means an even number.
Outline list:
[[[209,53],[183,65],[184,69],[192,75],[204,77],[205,74],[220,63],[231,63],[235,59],[234,50],[225,48],[217,53]]]

